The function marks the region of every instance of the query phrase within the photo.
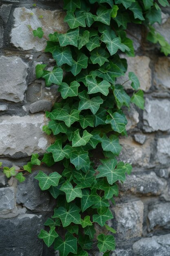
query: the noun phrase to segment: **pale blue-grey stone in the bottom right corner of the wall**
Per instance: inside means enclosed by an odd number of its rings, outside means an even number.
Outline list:
[[[135,256],[168,256],[170,255],[170,234],[141,238],[133,244]]]

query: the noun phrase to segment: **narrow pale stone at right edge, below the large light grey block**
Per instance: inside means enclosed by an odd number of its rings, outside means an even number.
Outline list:
[[[170,161],[170,136],[158,138],[156,160],[161,164],[168,164]]]

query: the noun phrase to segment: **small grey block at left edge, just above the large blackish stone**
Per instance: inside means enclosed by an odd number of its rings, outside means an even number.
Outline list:
[[[0,188],[0,213],[9,213],[14,209],[15,190],[13,187]]]

